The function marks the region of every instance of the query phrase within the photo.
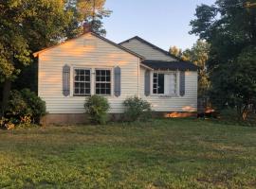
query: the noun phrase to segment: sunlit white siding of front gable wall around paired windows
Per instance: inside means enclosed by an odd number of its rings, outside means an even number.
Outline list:
[[[85,45],[86,44],[86,45]],[[71,66],[70,92],[63,94],[63,66]],[[123,112],[122,102],[127,95],[138,94],[139,59],[117,46],[91,35],[69,41],[42,52],[39,56],[39,96],[46,101],[49,113],[82,113],[85,97],[73,96],[73,68],[121,68],[121,95],[114,95],[112,74],[112,95],[107,96],[110,112]],[[92,78],[93,79],[93,78]],[[94,85],[91,86],[94,88]]]

